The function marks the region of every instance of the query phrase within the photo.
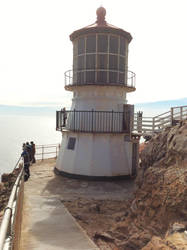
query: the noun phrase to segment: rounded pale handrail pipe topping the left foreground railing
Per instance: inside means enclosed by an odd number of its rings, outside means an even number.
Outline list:
[[[19,159],[19,161],[20,161],[20,159]],[[23,181],[23,173],[24,173],[24,168],[22,167],[21,171],[20,171],[20,173],[15,181],[15,184],[12,188],[8,204],[5,208],[5,212],[4,212],[1,227],[0,227],[0,250],[4,249],[4,244],[5,244],[6,238],[10,238],[12,240],[13,224],[14,224],[14,219],[15,219],[15,218],[12,219],[12,214],[14,214],[13,210],[15,209],[14,201],[19,196],[18,189],[20,187],[20,183]],[[11,243],[11,240],[10,240],[10,243]]]

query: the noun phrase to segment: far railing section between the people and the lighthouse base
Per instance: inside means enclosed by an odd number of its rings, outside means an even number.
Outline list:
[[[47,144],[36,146],[36,159],[44,160],[48,158],[57,158],[60,144]],[[47,157],[46,157],[47,156]]]

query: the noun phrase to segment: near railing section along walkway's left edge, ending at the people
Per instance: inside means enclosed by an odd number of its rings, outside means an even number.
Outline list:
[[[21,161],[19,159],[18,163]],[[15,169],[15,168],[14,168]],[[19,249],[19,234],[21,228],[21,210],[23,201],[24,169],[20,173],[12,188],[8,204],[5,208],[0,228],[0,250]],[[13,240],[14,239],[14,240]]]

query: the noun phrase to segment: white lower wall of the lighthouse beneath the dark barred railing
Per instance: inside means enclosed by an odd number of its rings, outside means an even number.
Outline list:
[[[67,149],[69,137],[75,137],[75,149]],[[56,168],[70,174],[87,176],[130,175],[132,142],[124,134],[63,132]]]

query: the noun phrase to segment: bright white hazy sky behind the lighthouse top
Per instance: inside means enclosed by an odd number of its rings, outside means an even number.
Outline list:
[[[133,36],[129,103],[187,97],[187,0],[1,0],[0,104],[69,106],[69,35],[94,23],[101,5],[108,23]]]

